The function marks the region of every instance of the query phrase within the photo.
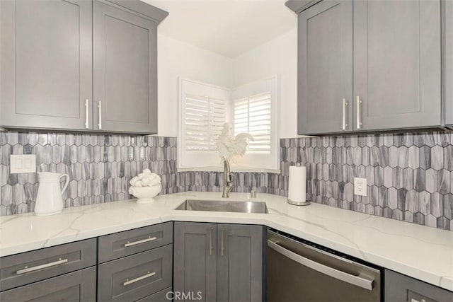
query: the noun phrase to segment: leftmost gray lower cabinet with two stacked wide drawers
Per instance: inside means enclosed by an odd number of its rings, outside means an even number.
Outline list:
[[[0,301],[96,301],[96,238],[0,258]]]

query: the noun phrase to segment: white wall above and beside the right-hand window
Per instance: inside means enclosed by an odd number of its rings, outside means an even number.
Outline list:
[[[280,77],[280,138],[297,137],[297,29],[233,61],[233,86]]]

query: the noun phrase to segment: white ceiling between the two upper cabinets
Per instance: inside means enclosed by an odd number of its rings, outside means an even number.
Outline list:
[[[166,35],[234,58],[297,27],[286,0],[142,0],[170,13]]]

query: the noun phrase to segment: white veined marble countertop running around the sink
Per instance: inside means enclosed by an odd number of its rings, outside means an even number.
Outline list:
[[[221,199],[216,192],[160,195],[64,209],[53,216],[0,217],[0,256],[93,238],[165,221],[262,224],[453,291],[453,232],[322,204],[297,207],[257,194],[269,214],[173,210],[185,199]],[[231,199],[248,194],[231,193]]]

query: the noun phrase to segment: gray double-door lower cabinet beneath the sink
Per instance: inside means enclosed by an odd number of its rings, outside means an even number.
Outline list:
[[[178,300],[263,301],[263,226],[175,222]]]

